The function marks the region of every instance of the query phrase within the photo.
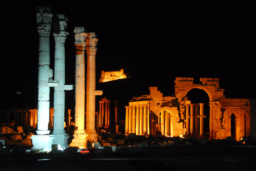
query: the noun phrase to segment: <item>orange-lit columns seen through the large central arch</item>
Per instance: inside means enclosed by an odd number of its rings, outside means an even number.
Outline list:
[[[198,114],[198,106],[200,105],[200,113]],[[186,135],[198,137],[199,125],[200,134],[204,136],[204,103],[185,104],[186,106]],[[194,110],[195,109],[195,110]],[[189,115],[190,113],[190,115]],[[198,124],[199,120],[199,124]]]

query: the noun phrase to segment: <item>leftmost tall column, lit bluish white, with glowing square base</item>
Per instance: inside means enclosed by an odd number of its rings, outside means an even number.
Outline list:
[[[52,69],[50,69],[50,45],[49,36],[52,24],[52,9],[48,6],[38,6],[36,8],[36,19],[39,33],[38,51],[38,130],[37,135],[33,135],[32,150],[50,149],[54,137],[49,135],[49,94],[50,86],[57,84],[52,80]],[[53,83],[53,85],[51,85]]]

